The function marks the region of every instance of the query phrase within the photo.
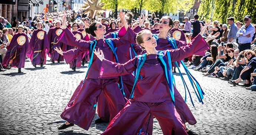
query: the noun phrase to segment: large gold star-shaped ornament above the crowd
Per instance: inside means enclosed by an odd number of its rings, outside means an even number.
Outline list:
[[[82,8],[85,9],[83,14],[87,15],[87,17],[91,19],[95,16],[100,16],[101,13],[104,13],[104,10],[101,8],[104,4],[101,3],[101,0],[87,0],[84,4],[85,6],[82,6]]]

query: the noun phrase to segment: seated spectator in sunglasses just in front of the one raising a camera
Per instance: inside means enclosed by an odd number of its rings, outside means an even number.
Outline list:
[[[236,58],[236,56],[234,55],[234,49],[233,48],[230,48],[227,52],[227,54],[229,55],[229,57],[231,57],[232,59],[229,61],[229,63],[227,65],[223,65],[223,64],[219,64],[218,67],[215,67],[215,71],[213,73],[211,73],[210,75],[208,75],[208,77],[224,77],[223,76],[223,72],[229,68],[229,67],[232,67],[233,66],[233,61],[234,59]],[[237,56],[239,54],[239,51],[237,52]],[[232,72],[233,73],[233,72]],[[226,75],[226,74],[225,74]]]

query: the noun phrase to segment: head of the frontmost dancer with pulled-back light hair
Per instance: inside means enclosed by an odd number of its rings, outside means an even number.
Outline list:
[[[150,31],[146,31],[144,34],[142,34],[142,38],[144,43],[142,43],[141,46],[146,50],[157,47],[157,40]]]

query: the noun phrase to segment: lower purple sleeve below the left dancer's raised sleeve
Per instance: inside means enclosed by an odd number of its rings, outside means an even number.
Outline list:
[[[87,51],[87,49],[71,49],[66,52],[63,52],[63,57],[65,58],[65,61],[67,64],[69,64],[72,60],[75,60],[80,54]]]

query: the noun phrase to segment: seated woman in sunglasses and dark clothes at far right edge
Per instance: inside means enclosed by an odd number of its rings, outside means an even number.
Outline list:
[[[243,87],[250,87],[250,77],[251,73],[256,69],[256,57],[255,52],[252,50],[244,50],[243,54],[245,58],[242,58],[242,60],[245,61],[246,66],[241,71],[239,78],[236,80],[229,80],[231,84],[234,86],[238,85],[238,82],[241,80],[246,80],[246,83],[242,85]]]

